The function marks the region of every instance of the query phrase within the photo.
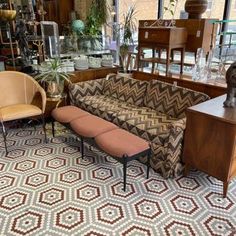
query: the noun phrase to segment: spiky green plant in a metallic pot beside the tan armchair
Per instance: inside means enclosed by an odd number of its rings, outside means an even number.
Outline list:
[[[60,59],[54,58],[41,65],[41,73],[35,79],[43,84],[48,97],[62,97],[65,81],[70,82],[73,74],[65,71],[65,66]]]

